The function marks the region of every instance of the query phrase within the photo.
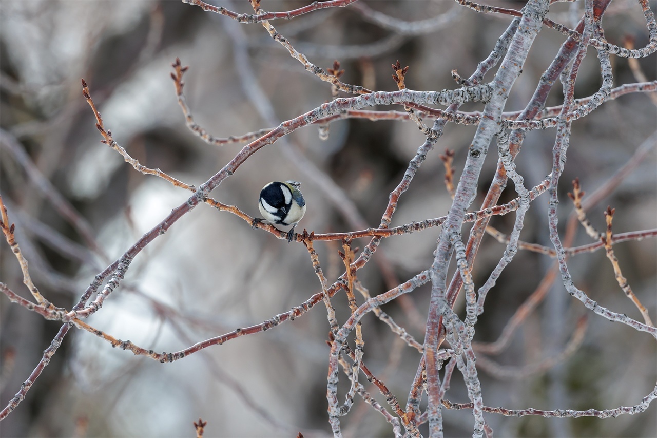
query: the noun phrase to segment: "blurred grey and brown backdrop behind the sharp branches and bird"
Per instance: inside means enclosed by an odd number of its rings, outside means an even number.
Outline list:
[[[361,3],[396,20],[417,23],[407,31],[388,28],[368,18],[372,12],[357,9]],[[252,13],[246,1],[212,4]],[[263,1],[262,7],[289,11],[304,5],[307,2]],[[495,5],[520,9],[523,2]],[[556,4],[550,16],[572,28],[582,7],[580,2]],[[339,60],[345,70],[343,82],[392,91],[397,87],[390,78],[390,64],[397,60],[410,66],[406,84],[411,89],[455,88],[450,71],[457,69],[468,77],[509,21],[450,1],[368,1],[271,24],[313,64],[327,69]],[[620,45],[625,36],[634,37],[636,47],[647,42],[645,19],[634,1],[613,1],[603,26],[611,43]],[[558,32],[543,29],[506,110],[524,109],[563,39]],[[160,178],[139,174],[99,142],[102,137],[82,97],[80,78],[89,84],[114,139],[145,166],[198,187],[242,147],[208,145],[186,128],[170,78],[176,57],[190,66],[184,91],[194,120],[216,137],[271,128],[332,99],[330,85],[306,72],[260,24],[238,24],[179,1],[0,1],[0,193],[10,220],[16,223],[16,239],[35,284],[57,306],[71,308],[97,273],[190,196]],[[648,80],[657,74],[654,59],[639,60]],[[612,62],[614,85],[638,82],[626,59],[612,57]],[[600,86],[593,49],[577,85],[576,97],[591,95]],[[547,105],[558,105],[561,99],[558,85]],[[579,177],[583,189],[593,193],[654,132],[656,120],[657,110],[648,95],[629,94],[574,123],[560,181],[560,224],[572,212],[565,196],[572,191],[570,181]],[[426,123],[431,125],[432,120],[427,118]],[[436,150],[402,195],[392,226],[447,214],[451,199],[438,156],[446,148],[455,151],[455,178],[459,178],[474,130],[474,126],[447,125]],[[554,130],[528,135],[516,159],[526,185],[541,182],[550,172],[554,137]],[[423,141],[409,121],[338,120],[330,125],[326,141],[319,139],[316,126],[310,126],[258,151],[211,196],[254,216],[265,183],[298,180],[308,206],[299,231],[377,227],[390,191]],[[482,203],[495,157],[489,154],[473,207]],[[602,212],[610,205],[616,208],[615,233],[657,228],[656,175],[653,148],[591,209],[594,226],[604,229]],[[500,202],[515,196],[509,183]],[[71,212],[74,220],[62,211]],[[509,233],[513,220],[514,214],[509,214],[493,218],[491,224]],[[433,228],[385,239],[374,260],[358,272],[359,280],[371,295],[408,280],[431,264],[439,233],[440,228]],[[521,239],[551,246],[547,196],[533,203]],[[360,239],[353,246],[362,249],[367,241]],[[585,243],[591,239],[580,228],[575,244]],[[315,248],[332,283],[344,272],[337,255],[340,244],[317,242]],[[474,268],[477,287],[486,281],[504,249],[492,237],[484,237]],[[614,251],[633,291],[656,318],[655,240],[619,243]],[[0,256],[1,281],[29,297],[18,262],[5,243],[0,244]],[[548,256],[518,253],[488,295],[476,341],[499,337],[551,264]],[[569,266],[576,285],[592,299],[641,320],[614,280],[604,251],[574,256]],[[259,324],[319,291],[303,245],[288,245],[265,231],[252,230],[233,214],[200,205],[137,256],[120,287],[87,322],[147,349],[179,351],[235,328]],[[409,295],[421,320],[397,302],[384,306],[420,342],[429,295],[427,286]],[[338,321],[344,322],[349,314],[344,295],[336,295],[333,303]],[[457,310],[463,312],[462,304]],[[556,281],[509,347],[491,360],[522,369],[555,356],[585,313]],[[60,324],[9,303],[6,297],[0,298],[0,318],[4,407],[37,365]],[[373,315],[363,320],[363,333],[365,363],[404,405],[419,353]],[[194,436],[192,422],[200,417],[208,422],[206,436],[294,436],[299,431],[304,436],[326,436],[330,434],[327,338],[321,303],[294,322],[172,364],[112,349],[90,333],[72,330],[26,399],[0,424],[0,433],[4,437]],[[545,410],[638,404],[654,388],[656,353],[649,335],[589,313],[578,351],[547,372],[501,379],[482,366],[484,401],[488,406]],[[341,377],[342,401],[347,386],[346,377]],[[462,381],[455,373],[450,401],[468,401]],[[369,383],[366,387],[388,407],[376,387]],[[470,435],[470,412],[449,411],[443,418],[445,436]],[[651,436],[655,418],[654,403],[643,414],[609,420],[486,416],[499,436],[527,437]],[[361,399],[342,425],[351,437],[391,434],[382,416]],[[422,431],[426,434],[426,429]]]

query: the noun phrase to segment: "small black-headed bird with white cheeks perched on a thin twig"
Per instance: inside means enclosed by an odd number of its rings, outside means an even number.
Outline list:
[[[288,231],[288,242],[291,242],[296,224],[306,214],[306,200],[299,190],[300,185],[300,182],[289,180],[273,181],[262,187],[258,208],[264,217],[254,218],[251,226],[256,228],[256,224],[263,220],[272,224],[291,225]]]

